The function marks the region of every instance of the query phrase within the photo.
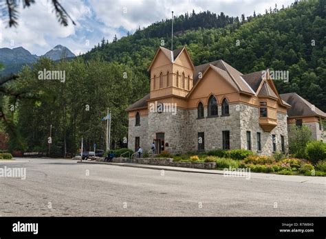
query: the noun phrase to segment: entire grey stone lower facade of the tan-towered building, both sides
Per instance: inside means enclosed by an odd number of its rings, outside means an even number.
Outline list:
[[[151,150],[151,143],[156,133],[164,133],[164,140],[169,146],[165,150],[171,153],[182,153],[198,150],[198,133],[204,133],[205,151],[221,149],[223,146],[222,131],[230,131],[230,149],[247,148],[247,131],[251,132],[251,150],[259,155],[273,153],[272,135],[275,135],[276,151],[281,150],[281,135],[284,137],[287,152],[287,117],[277,113],[277,126],[271,132],[265,132],[259,125],[259,108],[248,104],[230,104],[230,115],[221,115],[218,106],[217,117],[197,119],[197,109],[184,110],[177,108],[177,113],[149,112],[140,117],[140,126],[135,126],[135,118],[129,118],[128,147],[135,148],[135,137],[140,137],[143,152]],[[257,132],[261,133],[261,151],[257,151]]]

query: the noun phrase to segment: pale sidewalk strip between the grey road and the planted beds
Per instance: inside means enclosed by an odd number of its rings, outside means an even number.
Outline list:
[[[202,174],[224,175],[223,170],[203,170],[198,168],[156,166],[156,165],[140,164],[140,163],[108,163],[108,162],[99,162],[99,161],[82,161],[82,162],[78,161],[77,163],[108,164],[112,166],[146,168],[151,170],[166,170],[166,171],[176,171],[176,172],[193,172],[193,173],[202,173]],[[246,180],[245,177],[243,177],[243,179]],[[325,177],[313,177],[313,176],[281,175],[281,174],[250,172],[250,179],[267,179],[267,180],[276,180],[276,181],[287,181],[287,182],[296,182],[296,183],[316,183],[316,184],[326,185]]]

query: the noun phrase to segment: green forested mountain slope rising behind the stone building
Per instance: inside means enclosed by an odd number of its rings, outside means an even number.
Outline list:
[[[173,45],[187,45],[194,65],[223,59],[242,73],[289,71],[289,82],[275,80],[279,92],[294,91],[326,111],[325,5],[324,0],[295,2],[240,20],[223,13],[185,14],[175,20]],[[154,23],[118,41],[103,40],[83,57],[114,60],[146,73],[162,41],[171,46],[170,30],[171,20]]]

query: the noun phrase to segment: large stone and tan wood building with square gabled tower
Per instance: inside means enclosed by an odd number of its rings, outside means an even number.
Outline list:
[[[128,148],[287,152],[291,105],[268,71],[243,74],[224,60],[194,66],[186,47],[160,47],[148,70],[150,93],[126,109]]]

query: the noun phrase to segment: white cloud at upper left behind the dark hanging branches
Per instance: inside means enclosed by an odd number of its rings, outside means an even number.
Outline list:
[[[0,25],[3,36],[0,47],[23,46],[33,54],[45,54],[55,45],[61,44],[61,41],[73,36],[78,27],[82,27],[78,20],[90,14],[82,1],[65,1],[63,6],[76,20],[76,27],[72,23],[67,27],[60,25],[50,1],[36,1],[30,8],[20,8],[18,27],[8,27],[8,23],[3,21]]]

